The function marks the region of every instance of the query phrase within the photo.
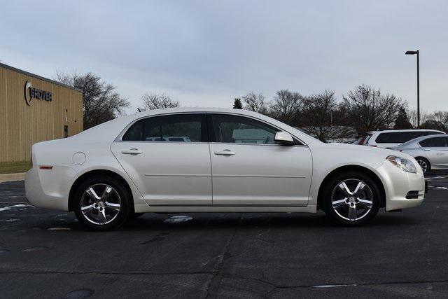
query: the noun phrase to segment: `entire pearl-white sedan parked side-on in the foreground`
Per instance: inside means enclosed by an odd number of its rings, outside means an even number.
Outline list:
[[[325,211],[360,225],[416,207],[425,181],[405,153],[324,144],[239,109],[162,109],[34,144],[26,196],[96,230],[146,212]]]

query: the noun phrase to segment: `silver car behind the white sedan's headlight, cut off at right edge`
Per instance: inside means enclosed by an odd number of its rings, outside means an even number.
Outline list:
[[[412,155],[423,170],[448,169],[448,136],[446,134],[423,136],[395,146],[395,151]]]

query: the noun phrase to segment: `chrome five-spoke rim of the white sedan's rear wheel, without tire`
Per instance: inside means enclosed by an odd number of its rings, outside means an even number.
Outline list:
[[[118,192],[105,183],[87,188],[81,197],[83,216],[96,225],[111,223],[120,213],[121,200]]]

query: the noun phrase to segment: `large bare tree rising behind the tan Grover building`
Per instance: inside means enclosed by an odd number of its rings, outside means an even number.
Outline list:
[[[56,71],[55,80],[78,88],[83,92],[84,129],[122,115],[129,102],[114,90],[116,87],[92,73],[72,74]]]

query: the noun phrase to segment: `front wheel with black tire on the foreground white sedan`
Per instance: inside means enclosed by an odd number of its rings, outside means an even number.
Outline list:
[[[349,190],[353,192],[356,190],[359,181],[364,183],[365,186],[360,185],[363,186],[361,190],[362,192],[358,191],[360,193],[357,193],[357,195],[347,195],[345,193],[346,188],[339,187],[339,185],[344,182]],[[377,215],[379,206],[383,200],[377,183],[369,175],[364,174],[363,172],[352,171],[336,174],[325,183],[323,188],[325,188],[321,197],[323,211],[332,218],[332,221],[339,225],[359,226],[367,223]],[[337,195],[342,197],[342,199],[339,199]],[[332,197],[337,198],[333,199]],[[341,202],[342,200],[344,200],[344,202]],[[359,200],[363,202],[359,202]],[[371,204],[366,204],[365,202],[371,202]],[[333,208],[333,205],[337,207]],[[368,211],[367,206],[370,206]],[[356,211],[356,209],[358,209],[358,211]],[[360,213],[359,218],[357,213]],[[364,216],[363,213],[365,213]],[[356,215],[356,217],[353,215]]]

